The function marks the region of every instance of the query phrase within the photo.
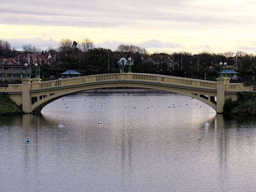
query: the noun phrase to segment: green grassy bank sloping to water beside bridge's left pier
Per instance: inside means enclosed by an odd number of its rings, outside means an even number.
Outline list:
[[[0,115],[18,115],[22,114],[20,106],[16,105],[8,94],[0,93]]]

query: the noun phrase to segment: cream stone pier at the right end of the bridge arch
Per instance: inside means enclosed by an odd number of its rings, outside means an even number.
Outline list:
[[[223,113],[223,106],[225,103],[225,84],[229,83],[227,77],[217,78],[217,103],[216,103],[216,112]]]

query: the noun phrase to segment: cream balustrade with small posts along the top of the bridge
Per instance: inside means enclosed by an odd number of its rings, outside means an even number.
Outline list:
[[[196,80],[196,79],[155,75],[155,74],[136,74],[136,73],[101,74],[101,75],[82,76],[82,77],[76,77],[76,78],[45,81],[45,82],[39,82],[39,83],[31,83],[30,90],[50,89],[50,88],[56,88],[56,87],[81,85],[85,83],[94,83],[94,82],[98,83],[98,82],[122,81],[122,80],[140,81],[140,82],[145,81],[145,82],[152,82],[152,83],[163,83],[166,85],[177,85],[181,87],[193,87],[193,88],[208,89],[213,91],[217,90],[217,83],[214,81]],[[21,92],[22,85],[9,85],[9,87],[3,88],[2,91]],[[225,91],[231,91],[231,92],[250,91],[250,87],[244,87],[243,84],[227,83],[225,85]]]

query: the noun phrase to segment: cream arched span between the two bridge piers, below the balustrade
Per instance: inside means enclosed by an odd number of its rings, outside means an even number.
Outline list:
[[[54,100],[74,94],[77,92],[82,92],[90,89],[100,89],[100,88],[110,88],[110,87],[138,87],[147,89],[158,89],[168,92],[173,92],[177,94],[182,94],[200,100],[216,111],[216,91],[205,91],[200,89],[195,89],[192,87],[179,87],[178,85],[164,85],[161,83],[148,83],[148,82],[108,82],[108,83],[91,83],[86,85],[77,85],[70,87],[57,87],[55,89],[43,90],[43,91],[31,91],[31,112],[40,112],[43,107],[47,104],[53,102]]]

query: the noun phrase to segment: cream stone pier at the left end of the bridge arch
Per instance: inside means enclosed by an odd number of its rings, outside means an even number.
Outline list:
[[[22,111],[30,113],[30,79],[22,79]]]

